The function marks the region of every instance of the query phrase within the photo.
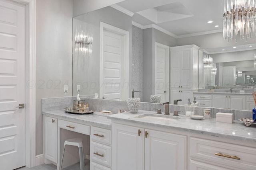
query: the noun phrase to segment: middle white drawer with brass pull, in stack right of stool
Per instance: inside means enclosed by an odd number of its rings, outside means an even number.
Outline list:
[[[111,166],[111,147],[91,141],[90,158],[100,164]]]

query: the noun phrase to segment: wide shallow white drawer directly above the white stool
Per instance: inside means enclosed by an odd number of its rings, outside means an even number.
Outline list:
[[[58,119],[58,127],[67,129],[69,131],[90,135],[90,126],[88,125]]]

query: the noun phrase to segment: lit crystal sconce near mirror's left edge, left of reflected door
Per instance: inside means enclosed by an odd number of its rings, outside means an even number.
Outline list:
[[[76,28],[74,39],[75,56],[85,57],[87,55],[90,57],[92,54],[92,32],[80,26]]]

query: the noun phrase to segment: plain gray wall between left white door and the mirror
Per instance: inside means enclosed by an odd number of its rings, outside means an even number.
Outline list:
[[[72,96],[72,0],[36,1],[36,155],[43,153],[42,98]]]

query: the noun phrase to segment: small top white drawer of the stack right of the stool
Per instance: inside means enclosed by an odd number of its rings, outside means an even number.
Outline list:
[[[91,134],[92,140],[111,145],[111,130],[92,126]]]

